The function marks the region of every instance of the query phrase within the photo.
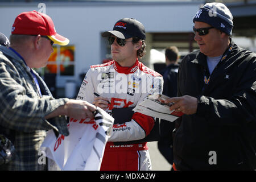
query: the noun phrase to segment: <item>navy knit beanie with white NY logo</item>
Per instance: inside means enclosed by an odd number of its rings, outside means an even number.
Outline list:
[[[232,35],[233,16],[223,3],[206,3],[197,11],[193,22],[205,22],[228,35]]]

